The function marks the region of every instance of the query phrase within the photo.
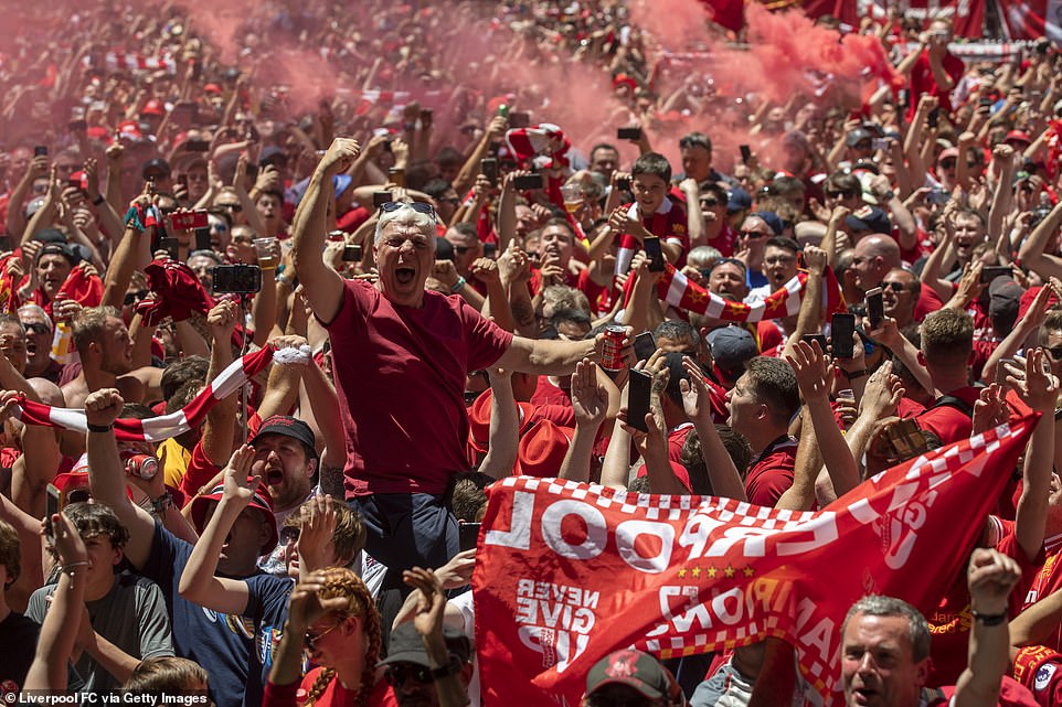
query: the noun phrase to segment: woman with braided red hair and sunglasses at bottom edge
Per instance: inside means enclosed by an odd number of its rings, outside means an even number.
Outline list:
[[[300,687],[304,707],[382,707],[380,645],[380,613],[358,575],[342,567],[314,572],[291,592],[263,707],[294,707]],[[300,683],[304,647],[319,667]]]

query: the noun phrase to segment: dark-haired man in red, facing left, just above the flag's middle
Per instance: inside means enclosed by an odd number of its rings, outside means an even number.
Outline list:
[[[796,374],[779,358],[756,356],[726,394],[730,419],[755,454],[745,475],[748,503],[774,507],[793,485],[797,443],[789,437],[789,420],[800,408]]]

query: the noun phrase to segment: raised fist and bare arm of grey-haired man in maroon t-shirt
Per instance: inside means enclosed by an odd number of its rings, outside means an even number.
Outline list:
[[[314,313],[323,321],[336,319],[343,306],[343,279],[325,265],[325,223],[332,193],[332,176],[358,157],[358,142],[336,138],[310,176],[291,225],[295,272]]]

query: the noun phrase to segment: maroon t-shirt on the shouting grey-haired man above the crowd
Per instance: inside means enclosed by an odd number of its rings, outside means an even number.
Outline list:
[[[391,302],[347,280],[326,324],[347,435],[347,497],[446,490],[468,468],[465,375],[492,365],[512,334],[459,297],[424,292],[423,306]],[[370,375],[371,374],[371,375]]]

